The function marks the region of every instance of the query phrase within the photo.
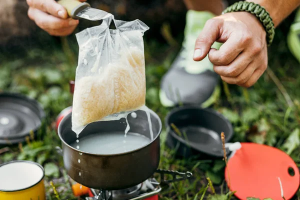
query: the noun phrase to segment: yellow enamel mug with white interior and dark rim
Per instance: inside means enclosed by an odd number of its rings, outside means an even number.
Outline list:
[[[14,160],[0,165],[0,200],[45,200],[43,167]]]

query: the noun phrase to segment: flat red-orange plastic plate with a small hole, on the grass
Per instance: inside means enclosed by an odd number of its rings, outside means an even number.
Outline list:
[[[294,174],[290,175],[289,170]],[[241,143],[225,168],[227,185],[236,191],[236,197],[244,200],[247,197],[282,199],[278,177],[283,196],[290,199],[299,187],[298,167],[285,152],[257,143]]]

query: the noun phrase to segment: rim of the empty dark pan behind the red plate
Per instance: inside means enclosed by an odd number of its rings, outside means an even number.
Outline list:
[[[227,137],[225,137],[225,143],[227,143],[233,136],[233,128],[232,128],[232,124],[229,122],[228,119],[226,119],[224,117],[224,115],[222,115],[221,113],[215,111],[214,109],[211,109],[211,108],[203,108],[201,106],[198,106],[198,105],[184,105],[184,106],[180,106],[180,107],[176,107],[176,108],[173,108],[171,109],[167,115],[165,116],[165,120],[164,120],[164,125],[165,127],[167,127],[168,129],[168,133],[170,133],[170,135],[175,138],[176,140],[178,140],[179,142],[185,144],[185,145],[188,145],[188,142],[181,138],[180,136],[178,136],[171,128],[170,128],[170,125],[168,123],[168,119],[170,118],[171,115],[175,114],[176,112],[178,111],[181,111],[181,110],[184,110],[184,109],[197,109],[197,110],[204,110],[204,111],[207,111],[207,112],[210,112],[218,117],[220,117],[222,120],[225,121],[225,123],[227,124],[228,128],[229,128],[229,132],[228,132],[228,135]],[[193,147],[191,147],[193,148]],[[198,149],[196,149],[198,150]],[[204,151],[204,150],[198,150],[200,152],[203,152],[203,153],[206,153],[208,155],[212,155],[212,156],[218,156],[217,154],[215,153],[211,153],[210,151]]]

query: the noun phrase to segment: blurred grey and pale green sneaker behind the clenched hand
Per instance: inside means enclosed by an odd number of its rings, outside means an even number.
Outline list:
[[[201,104],[207,107],[220,93],[219,75],[213,71],[213,64],[206,56],[201,61],[192,59],[194,44],[205,22],[215,15],[208,11],[188,10],[182,48],[162,77],[159,98],[163,106],[178,104]],[[221,43],[211,47],[218,49]]]

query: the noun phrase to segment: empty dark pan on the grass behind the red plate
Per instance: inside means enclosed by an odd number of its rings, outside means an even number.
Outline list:
[[[172,123],[175,126],[171,126]],[[184,157],[201,155],[202,158],[221,158],[220,133],[224,132],[225,142],[233,134],[231,123],[222,114],[192,105],[172,109],[165,117],[165,126],[168,130],[167,145],[177,148],[177,155]],[[229,151],[226,150],[226,153]]]

